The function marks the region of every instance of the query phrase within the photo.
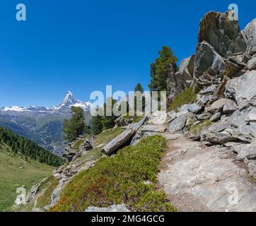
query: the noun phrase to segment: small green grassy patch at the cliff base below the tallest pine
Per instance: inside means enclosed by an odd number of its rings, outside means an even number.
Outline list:
[[[170,104],[170,111],[174,110],[177,112],[182,105],[192,104],[196,100],[197,94],[194,93],[193,88],[187,88],[175,97],[173,102]]]

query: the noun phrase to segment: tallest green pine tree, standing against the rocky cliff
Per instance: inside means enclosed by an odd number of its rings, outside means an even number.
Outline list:
[[[159,51],[159,57],[151,64],[151,83],[149,89],[151,91],[167,91],[167,78],[170,66],[177,68],[176,62],[178,59],[173,56],[173,51],[170,47],[162,47]]]

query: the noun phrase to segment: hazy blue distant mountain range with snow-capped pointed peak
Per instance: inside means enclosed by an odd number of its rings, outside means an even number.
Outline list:
[[[61,155],[64,149],[62,122],[71,117],[72,106],[83,108],[86,123],[89,124],[91,102],[77,100],[69,91],[62,102],[54,107],[1,107],[0,126]]]

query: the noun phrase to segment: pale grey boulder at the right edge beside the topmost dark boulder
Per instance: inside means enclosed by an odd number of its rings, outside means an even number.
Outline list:
[[[246,52],[253,54],[256,51],[256,19],[248,23],[243,32],[246,37]]]

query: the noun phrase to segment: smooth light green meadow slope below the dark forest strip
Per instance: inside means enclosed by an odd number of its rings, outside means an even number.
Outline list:
[[[52,174],[53,167],[40,164],[35,160],[25,160],[21,155],[9,153],[10,148],[0,145],[0,211],[11,211],[16,199],[16,189],[30,188]]]

